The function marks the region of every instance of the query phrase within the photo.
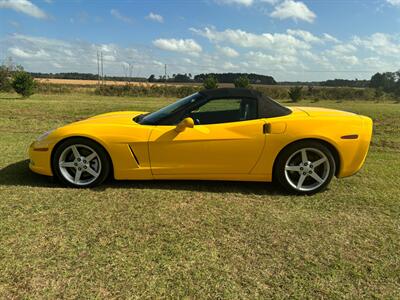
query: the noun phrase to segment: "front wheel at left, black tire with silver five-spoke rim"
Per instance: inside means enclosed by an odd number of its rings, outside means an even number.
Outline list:
[[[110,161],[104,148],[85,138],[64,141],[55,150],[52,166],[62,183],[74,187],[99,185],[110,173]]]

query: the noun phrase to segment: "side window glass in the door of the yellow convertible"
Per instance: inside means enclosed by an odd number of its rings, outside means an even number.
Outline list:
[[[187,114],[195,124],[219,124],[257,118],[256,99],[212,99]]]

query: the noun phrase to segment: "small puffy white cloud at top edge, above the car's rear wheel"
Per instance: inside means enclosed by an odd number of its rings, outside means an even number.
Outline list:
[[[271,17],[278,19],[302,20],[309,23],[314,22],[316,15],[303,2],[285,0],[275,7]]]

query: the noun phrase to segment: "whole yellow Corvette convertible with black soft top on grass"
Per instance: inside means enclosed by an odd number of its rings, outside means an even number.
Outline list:
[[[276,181],[310,194],[356,173],[372,120],[285,107],[254,90],[205,90],[156,112],[113,112],[41,135],[30,168],[67,185],[115,179]]]

